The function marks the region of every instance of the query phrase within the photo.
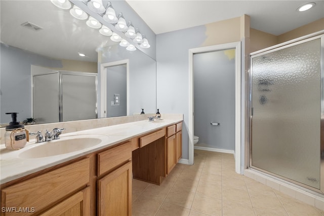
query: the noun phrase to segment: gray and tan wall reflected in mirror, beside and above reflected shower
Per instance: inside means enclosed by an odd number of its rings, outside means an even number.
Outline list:
[[[6,112],[18,112],[18,121],[23,121],[26,118],[32,117],[31,65],[39,65],[52,69],[70,70],[71,63],[75,62],[77,67],[74,70],[97,73],[97,62],[53,59],[4,45],[2,43],[0,50],[1,123],[10,122],[10,116],[6,116]],[[85,70],[85,68],[87,70]]]

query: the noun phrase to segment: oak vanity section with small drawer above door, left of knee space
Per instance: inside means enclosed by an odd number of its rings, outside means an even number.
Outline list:
[[[97,154],[98,215],[132,215],[132,141]]]

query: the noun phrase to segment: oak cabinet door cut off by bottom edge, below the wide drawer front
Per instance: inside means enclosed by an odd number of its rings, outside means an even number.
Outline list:
[[[40,215],[90,215],[90,187],[77,192]]]

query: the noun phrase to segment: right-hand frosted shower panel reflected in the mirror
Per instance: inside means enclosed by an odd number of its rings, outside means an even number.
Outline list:
[[[96,76],[62,74],[62,121],[97,118]]]

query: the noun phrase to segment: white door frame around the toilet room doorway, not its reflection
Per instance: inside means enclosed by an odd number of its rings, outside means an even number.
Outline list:
[[[235,172],[241,173],[241,42],[233,42],[208,47],[189,49],[189,127],[188,152],[189,164],[193,164],[193,128],[194,128],[194,98],[193,98],[193,54],[219,50],[235,49]]]

